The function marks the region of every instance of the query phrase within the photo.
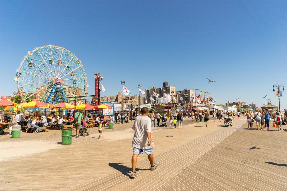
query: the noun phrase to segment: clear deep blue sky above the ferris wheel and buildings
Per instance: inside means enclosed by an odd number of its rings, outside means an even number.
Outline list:
[[[48,44],[82,61],[93,94],[100,72],[106,92],[162,87],[201,89],[218,104],[262,106],[279,80],[287,88],[286,1],[1,1],[1,95],[23,56]],[[218,83],[207,83],[206,78]],[[287,106],[287,92],[281,109]]]

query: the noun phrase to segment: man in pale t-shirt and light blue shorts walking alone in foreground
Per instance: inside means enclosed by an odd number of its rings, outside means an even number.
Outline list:
[[[141,115],[136,118],[133,125],[134,138],[132,142],[133,156],[131,158],[132,173],[131,178],[136,178],[136,161],[141,153],[148,155],[148,160],[151,164],[151,171],[158,167],[158,163],[153,161],[154,143],[151,138],[151,119],[148,117],[148,108],[141,109]]]

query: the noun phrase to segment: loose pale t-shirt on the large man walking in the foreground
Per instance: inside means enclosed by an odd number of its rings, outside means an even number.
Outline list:
[[[151,145],[148,146],[147,132],[151,132],[151,119],[148,116],[138,116],[133,125],[134,138],[131,144],[132,147],[138,149],[150,149],[154,147],[153,139],[151,137]]]

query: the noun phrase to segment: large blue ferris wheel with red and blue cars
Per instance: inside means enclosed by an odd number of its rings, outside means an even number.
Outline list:
[[[87,76],[81,61],[63,47],[48,45],[28,51],[14,78],[22,100],[46,103],[83,96]]]

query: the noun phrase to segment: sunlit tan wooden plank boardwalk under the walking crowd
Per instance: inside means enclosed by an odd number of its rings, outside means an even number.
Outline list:
[[[118,139],[60,145],[0,162],[0,190],[287,190],[287,132],[240,128],[245,122],[235,120],[231,128],[210,122],[208,128],[191,123],[180,130],[154,130],[160,166],[146,170],[149,163],[140,155],[135,179],[129,178],[129,129],[111,132]]]

